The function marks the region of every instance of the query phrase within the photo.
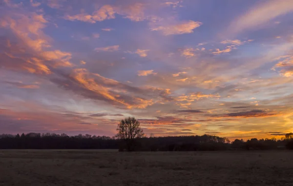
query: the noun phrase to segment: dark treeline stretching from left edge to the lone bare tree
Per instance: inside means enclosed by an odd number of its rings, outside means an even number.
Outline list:
[[[116,140],[107,136],[66,134],[2,134],[0,149],[117,149]]]

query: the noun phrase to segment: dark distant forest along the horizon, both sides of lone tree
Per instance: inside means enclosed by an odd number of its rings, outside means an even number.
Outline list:
[[[135,140],[135,151],[201,151],[201,150],[272,150],[293,149],[293,133],[286,134],[281,140],[256,139],[248,141],[212,135],[149,137]],[[66,134],[2,134],[0,149],[125,149],[124,141],[107,136]]]

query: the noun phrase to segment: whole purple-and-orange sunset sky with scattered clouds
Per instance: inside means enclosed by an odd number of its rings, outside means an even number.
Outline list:
[[[293,0],[0,0],[0,133],[281,138]]]

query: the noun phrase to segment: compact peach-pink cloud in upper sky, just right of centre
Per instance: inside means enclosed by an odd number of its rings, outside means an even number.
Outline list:
[[[177,24],[167,24],[154,26],[151,28],[152,31],[161,31],[163,35],[178,35],[178,34],[190,34],[193,30],[202,25],[202,22],[198,21],[182,21]]]

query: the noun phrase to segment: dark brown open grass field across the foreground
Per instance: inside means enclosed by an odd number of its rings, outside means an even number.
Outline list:
[[[292,186],[293,152],[0,150],[0,186]]]

